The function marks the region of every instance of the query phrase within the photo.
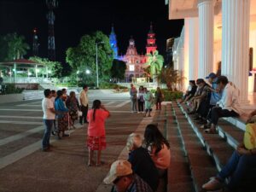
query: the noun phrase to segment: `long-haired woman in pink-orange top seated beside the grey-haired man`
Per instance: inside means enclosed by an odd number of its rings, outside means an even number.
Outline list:
[[[170,144],[163,137],[157,125],[147,125],[144,132],[144,144],[148,148],[148,152],[159,171],[160,177],[162,177],[170,166],[171,152]]]

